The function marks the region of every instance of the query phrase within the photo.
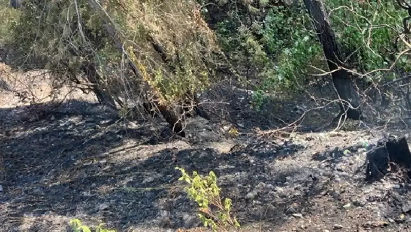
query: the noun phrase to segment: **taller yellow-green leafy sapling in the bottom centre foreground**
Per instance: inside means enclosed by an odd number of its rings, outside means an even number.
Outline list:
[[[184,190],[190,200],[194,200],[199,207],[198,218],[213,231],[226,230],[227,226],[239,228],[237,219],[230,216],[231,199],[225,198],[221,201],[220,189],[217,187],[217,177],[213,171],[202,178],[196,171],[190,177],[183,168],[176,167],[181,171],[179,180],[186,182],[189,186]],[[212,209],[214,208],[214,209]]]

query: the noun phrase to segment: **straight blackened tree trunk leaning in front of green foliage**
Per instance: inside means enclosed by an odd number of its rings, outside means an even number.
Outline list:
[[[355,91],[352,79],[348,72],[340,69],[343,66],[342,55],[335,40],[334,32],[328,20],[322,0],[304,0],[304,4],[311,16],[312,24],[323,47],[327,59],[328,68],[332,72],[332,81],[339,95],[341,114],[347,118],[362,119],[361,109],[358,103],[358,93]]]

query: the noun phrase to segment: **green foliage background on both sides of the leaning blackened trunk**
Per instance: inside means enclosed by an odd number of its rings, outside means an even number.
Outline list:
[[[225,17],[216,23],[215,31],[232,61],[256,71],[251,78],[259,84],[253,86],[252,107],[259,109],[264,100],[261,93],[293,91],[308,84],[311,74],[328,68],[302,1],[270,7],[267,1],[257,2],[242,2],[234,8],[220,1],[220,7],[225,7],[221,11],[226,13],[219,12]],[[369,72],[388,68],[406,49],[394,43],[403,30],[402,18],[407,16],[395,1],[324,0],[324,4],[343,59],[347,59],[345,65],[354,73],[367,74],[368,80],[380,78],[384,71]],[[248,6],[259,10],[250,12]],[[406,56],[398,66],[411,70]],[[388,77],[393,78],[394,74]]]

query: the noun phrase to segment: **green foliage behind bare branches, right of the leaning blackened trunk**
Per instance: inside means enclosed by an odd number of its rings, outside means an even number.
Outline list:
[[[367,73],[376,69],[388,68],[405,47],[395,37],[402,29],[402,18],[407,12],[398,7],[396,1],[354,1],[341,3],[337,0],[326,0],[331,25],[342,48],[350,53],[356,49],[353,66],[356,72]],[[389,51],[393,51],[390,53]],[[405,57],[404,57],[405,58]],[[410,69],[406,59],[399,66]],[[381,74],[369,75],[373,78]]]

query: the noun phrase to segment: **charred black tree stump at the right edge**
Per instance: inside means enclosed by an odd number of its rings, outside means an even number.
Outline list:
[[[385,175],[397,171],[397,167],[410,175],[411,152],[405,137],[388,136],[377,143],[378,147],[367,153],[366,180],[381,180]]]

